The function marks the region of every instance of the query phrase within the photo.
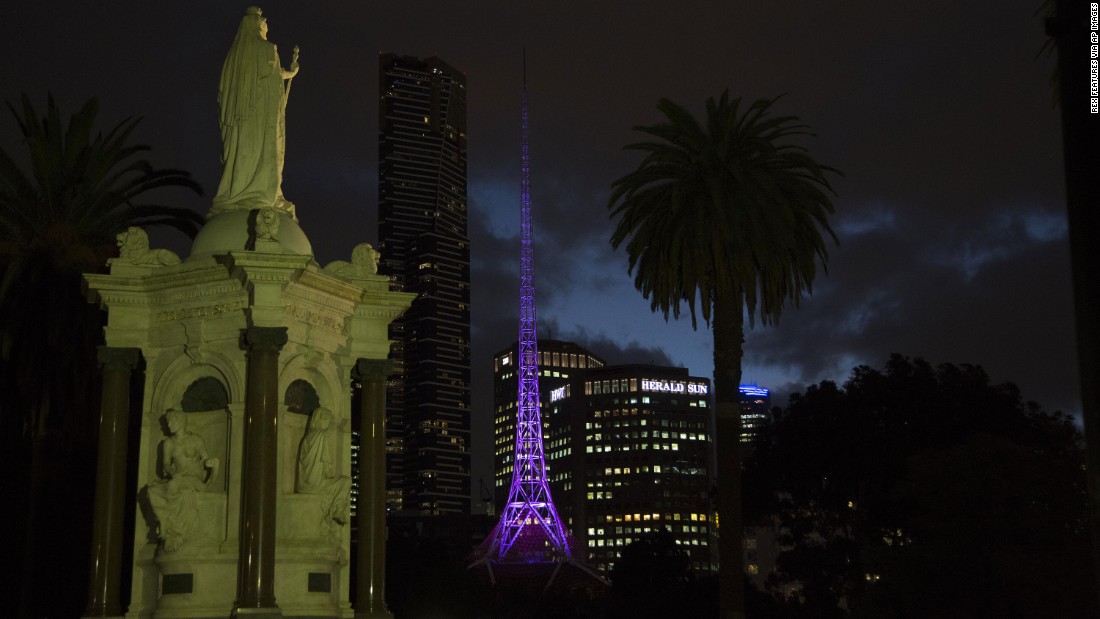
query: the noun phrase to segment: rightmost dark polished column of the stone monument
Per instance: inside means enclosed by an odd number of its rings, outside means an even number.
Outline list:
[[[359,410],[359,549],[355,553],[355,617],[388,618],[386,610],[386,377],[389,360],[361,358]]]

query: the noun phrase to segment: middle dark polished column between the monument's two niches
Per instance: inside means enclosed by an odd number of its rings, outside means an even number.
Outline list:
[[[275,605],[275,495],[278,451],[278,353],[286,327],[244,331],[249,376],[241,464],[241,535],[235,617],[282,617]]]

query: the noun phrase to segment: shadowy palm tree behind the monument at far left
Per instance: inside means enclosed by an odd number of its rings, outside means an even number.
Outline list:
[[[3,454],[13,461],[4,471],[19,472],[18,485],[29,493],[25,559],[33,562],[48,555],[34,546],[57,535],[37,535],[57,507],[51,502],[59,495],[63,500],[79,498],[84,488],[74,489],[77,497],[58,490],[95,468],[79,460],[97,431],[96,346],[102,340],[103,314],[86,302],[81,275],[105,269],[107,258],[117,255],[116,234],[128,226],[168,225],[194,237],[202,224],[199,213],[144,199],[160,188],[201,189],[186,172],[135,158],[150,150],[129,142],[139,119],[106,134],[95,132],[95,99],[67,126],[52,96],[41,117],[25,95],[21,110],[11,103],[8,108],[29,165],[22,169],[0,150],[0,433]],[[61,513],[65,511],[63,506]],[[80,562],[66,563],[82,571]],[[28,572],[35,577],[34,570]],[[26,588],[24,600],[56,597]]]

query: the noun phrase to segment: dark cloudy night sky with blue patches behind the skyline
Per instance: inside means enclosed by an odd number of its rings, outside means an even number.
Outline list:
[[[0,5],[0,99],[53,91],[68,113],[144,117],[161,166],[190,170],[205,212],[220,175],[217,87],[249,3]],[[622,146],[670,98],[696,112],[729,88],[785,96],[836,178],[828,275],[747,336],[745,379],[787,394],[900,352],[975,363],[1026,399],[1079,412],[1059,117],[1040,0],[971,2],[265,2],[284,64],[284,190],[317,259],[377,239],[377,55],[439,55],[469,79],[474,487],[491,478],[491,355],[516,339],[519,102],[527,49],[539,334],[612,363],[710,376],[711,333],[666,323],[607,242]],[[0,146],[18,129],[0,111]],[[105,122],[105,128],[107,126]],[[186,254],[174,233],[154,246]]]

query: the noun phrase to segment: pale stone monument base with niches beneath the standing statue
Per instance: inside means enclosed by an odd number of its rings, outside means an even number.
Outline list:
[[[107,345],[146,365],[127,617],[354,615],[349,527],[331,497],[299,491],[299,454],[322,407],[331,474],[351,475],[352,371],[386,358],[411,295],[373,272],[321,269],[286,215],[276,244],[249,251],[248,221],[212,218],[179,264],[86,276]],[[114,612],[95,595],[89,612]]]

